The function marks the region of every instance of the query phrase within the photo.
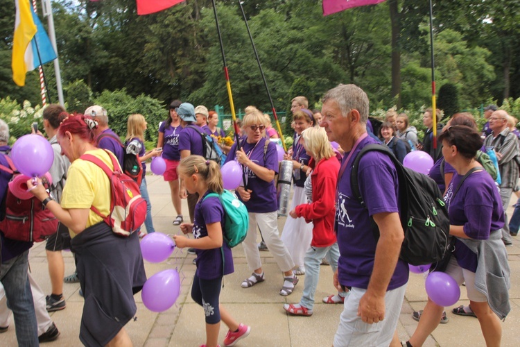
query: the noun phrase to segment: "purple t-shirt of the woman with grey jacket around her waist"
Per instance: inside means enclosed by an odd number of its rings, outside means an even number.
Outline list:
[[[499,189],[493,178],[483,170],[469,175],[453,196],[462,177],[457,173],[453,175],[444,196],[448,204],[449,223],[464,226],[464,233],[471,239],[488,239],[489,232],[504,226]],[[463,269],[476,272],[477,255],[459,239],[456,239],[453,255]]]

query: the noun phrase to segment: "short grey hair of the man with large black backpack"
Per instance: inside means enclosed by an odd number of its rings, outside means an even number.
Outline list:
[[[334,100],[338,106],[343,117],[351,110],[358,110],[361,115],[361,123],[366,124],[368,119],[368,96],[357,85],[343,85],[333,87],[327,92],[322,99],[322,103]]]

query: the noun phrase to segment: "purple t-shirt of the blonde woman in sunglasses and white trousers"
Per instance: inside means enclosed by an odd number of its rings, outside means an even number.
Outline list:
[[[265,143],[265,138],[261,138],[256,144],[248,144],[245,140],[241,142],[245,154],[247,154],[255,164],[273,170],[275,171],[275,174],[277,174],[279,164],[276,144],[275,142],[269,142],[267,146],[266,160],[264,161],[263,149]],[[233,144],[229,151],[229,155],[227,155],[226,162],[234,160],[235,156],[236,144]],[[275,183],[272,180],[266,182],[265,180],[258,178],[257,175],[248,168],[245,169],[245,177],[248,183],[248,189],[252,190],[250,200],[244,202],[245,207],[248,208],[248,212],[267,213],[278,210]],[[239,199],[241,199],[240,195]]]

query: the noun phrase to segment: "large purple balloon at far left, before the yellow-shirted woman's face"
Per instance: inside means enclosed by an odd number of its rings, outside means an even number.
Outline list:
[[[16,140],[12,146],[11,158],[21,174],[39,177],[51,169],[54,151],[45,137],[29,134]]]

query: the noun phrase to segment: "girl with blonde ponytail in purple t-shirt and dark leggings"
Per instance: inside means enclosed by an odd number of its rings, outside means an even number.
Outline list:
[[[231,248],[223,242],[224,208],[216,196],[222,194],[223,182],[220,167],[200,155],[183,158],[177,167],[180,178],[190,194],[198,193],[195,218],[192,223],[182,223],[180,230],[193,233],[194,239],[173,235],[179,248],[195,248],[197,270],[191,287],[191,298],[204,308],[206,316],[206,344],[217,346],[220,320],[229,328],[224,346],[233,346],[236,341],[249,335],[248,325],[236,322],[219,303],[220,287],[224,275],[234,272]]]

